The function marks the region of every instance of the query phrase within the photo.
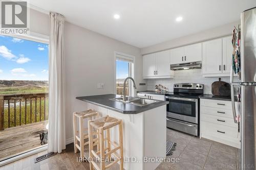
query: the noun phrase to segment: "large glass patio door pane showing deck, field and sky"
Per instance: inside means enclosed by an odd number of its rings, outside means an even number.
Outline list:
[[[0,133],[6,134],[0,161],[47,143],[39,138],[48,131],[49,50],[43,42],[0,35]]]

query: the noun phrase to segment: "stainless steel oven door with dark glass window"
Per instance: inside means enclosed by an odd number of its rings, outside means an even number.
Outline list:
[[[198,124],[198,99],[165,96],[167,117]]]

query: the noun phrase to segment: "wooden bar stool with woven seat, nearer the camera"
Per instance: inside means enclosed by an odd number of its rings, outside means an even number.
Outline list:
[[[110,128],[119,126],[119,145],[110,140]],[[93,128],[99,133],[99,150],[98,152],[93,151]],[[106,130],[106,138],[104,138],[104,130]],[[120,170],[123,170],[123,132],[122,132],[122,120],[110,116],[89,120],[88,122],[89,131],[89,154],[90,154],[90,169],[104,170],[110,168],[112,165],[119,161]],[[104,141],[106,141],[106,148],[104,147]],[[111,145],[114,149],[111,150]],[[119,150],[119,153],[117,151]],[[108,165],[105,165],[105,158],[108,157],[111,160],[112,154],[114,155],[114,161]],[[93,158],[100,160],[100,167],[93,161]]]

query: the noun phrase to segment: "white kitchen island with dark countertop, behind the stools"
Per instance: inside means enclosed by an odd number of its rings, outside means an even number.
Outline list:
[[[156,158],[166,155],[166,104],[157,101],[145,106],[123,103],[113,99],[116,94],[80,96],[87,109],[94,109],[100,116],[109,115],[123,121],[124,168],[153,170],[160,162]],[[117,127],[115,127],[117,128]],[[111,140],[118,141],[118,129],[111,129]],[[148,161],[151,160],[151,161]],[[153,161],[152,161],[153,160]]]

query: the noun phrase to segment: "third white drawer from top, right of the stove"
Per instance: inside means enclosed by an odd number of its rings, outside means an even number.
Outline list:
[[[232,118],[220,117],[220,116],[209,115],[209,114],[202,114],[201,116],[202,116],[202,121],[204,122],[238,128],[238,124],[234,123],[234,120]]]

